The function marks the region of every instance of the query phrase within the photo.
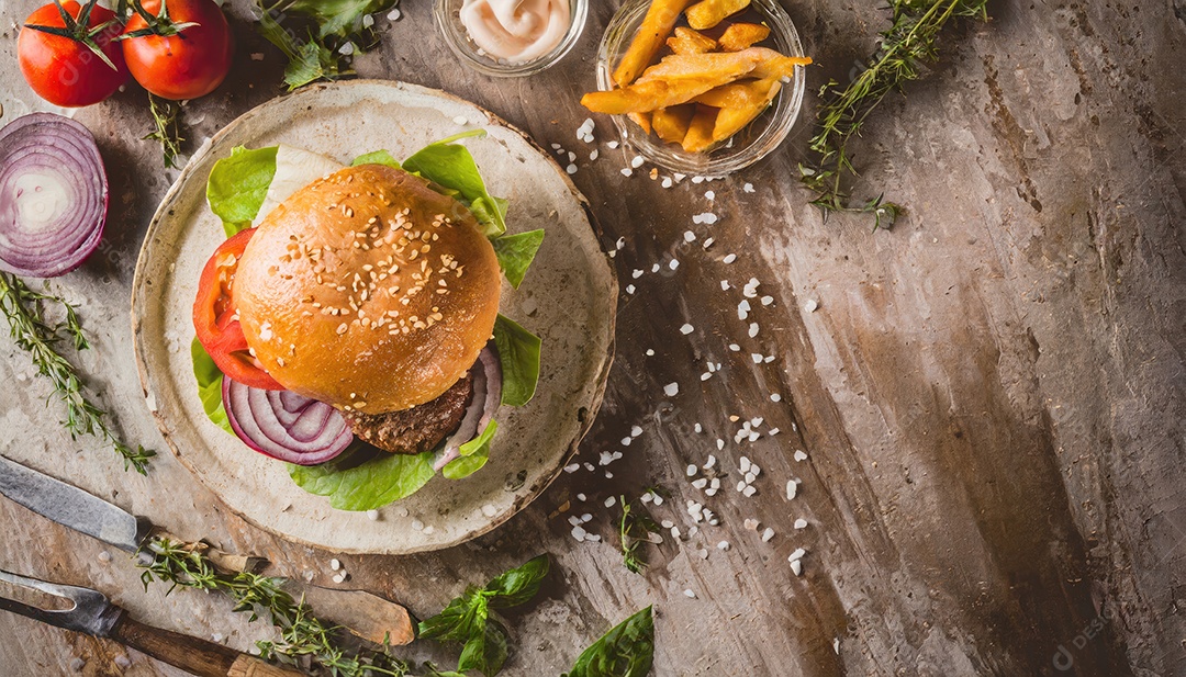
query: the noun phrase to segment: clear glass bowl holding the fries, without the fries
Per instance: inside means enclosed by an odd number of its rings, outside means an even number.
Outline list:
[[[597,84],[601,91],[613,89],[613,69],[630,47],[650,4],[651,0],[629,0],[610,20],[597,59]],[[804,56],[795,24],[776,0],[753,0],[751,7],[770,26],[770,37],[755,46],[770,46],[789,57]],[[625,115],[614,115],[613,123],[625,143],[651,164],[689,175],[723,177],[765,158],[786,139],[803,106],[804,81],[804,68],[795,66],[795,77],[783,85],[773,104],[708,153],[687,153],[648,134]]]

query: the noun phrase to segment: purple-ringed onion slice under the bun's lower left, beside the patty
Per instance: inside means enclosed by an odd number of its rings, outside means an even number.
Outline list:
[[[223,377],[223,408],[244,445],[299,466],[324,464],[355,439],[337,409],[288,390],[261,390]]]

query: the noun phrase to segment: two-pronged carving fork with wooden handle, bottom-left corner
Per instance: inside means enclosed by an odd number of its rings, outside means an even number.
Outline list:
[[[5,570],[0,570],[0,581],[74,602],[69,609],[43,609],[0,596],[0,609],[75,632],[114,639],[198,677],[302,677],[305,675],[240,653],[221,644],[136,622],[98,590],[47,583]]]

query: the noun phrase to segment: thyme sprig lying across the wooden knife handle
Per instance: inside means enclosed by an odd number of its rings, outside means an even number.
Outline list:
[[[250,571],[234,575],[215,569],[204,548],[195,543],[178,543],[167,538],[153,538],[145,544],[144,558],[138,566],[145,571],[140,580],[145,589],[160,580],[178,586],[203,590],[219,590],[235,601],[236,612],[250,612],[250,620],[259,618],[260,609],[268,614],[272,625],[280,630],[278,641],[260,640],[255,645],[267,660],[300,665],[308,660],[320,666],[332,677],[404,677],[408,665],[383,651],[365,654],[347,653],[338,646],[342,628],[327,625],[313,615],[302,600],[295,600],[281,587],[285,579],[261,576]]]

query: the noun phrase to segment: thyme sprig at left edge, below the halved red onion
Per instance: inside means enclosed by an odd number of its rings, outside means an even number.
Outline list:
[[[62,308],[65,319],[57,324],[46,320],[46,306]],[[28,352],[38,373],[53,383],[55,395],[66,407],[64,424],[70,436],[95,435],[103,439],[123,456],[123,470],[132,467],[147,475],[148,459],[157,452],[142,446],[133,449],[115,436],[108,426],[107,411],[88,398],[78,369],[58,352],[63,343],[75,351],[90,347],[77,309],[62,296],[34,292],[20,277],[0,273],[0,311],[8,320],[8,331],[17,346]]]

